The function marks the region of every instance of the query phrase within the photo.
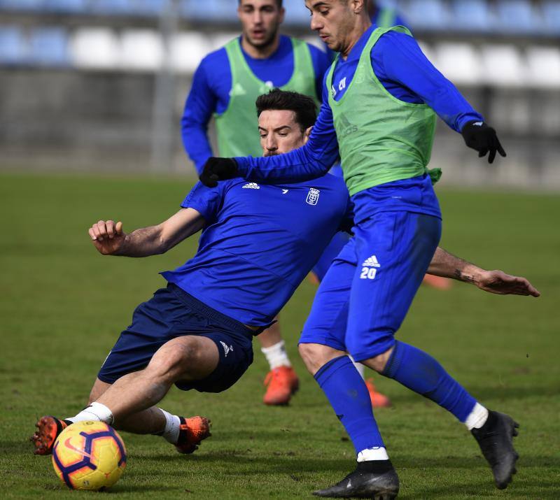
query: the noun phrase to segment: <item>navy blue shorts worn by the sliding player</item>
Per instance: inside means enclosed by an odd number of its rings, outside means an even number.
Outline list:
[[[253,331],[169,283],[134,310],[132,324],[120,334],[97,377],[112,384],[144,369],[162,345],[184,335],[210,338],[218,346],[220,360],[207,378],[176,383],[181,390],[222,392],[253,362]]]

